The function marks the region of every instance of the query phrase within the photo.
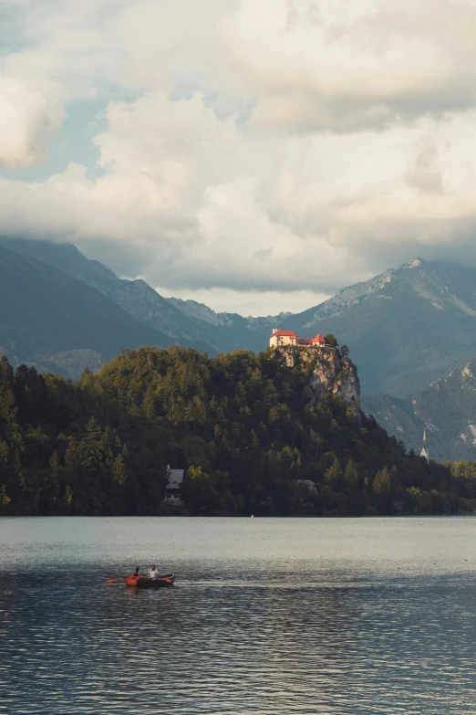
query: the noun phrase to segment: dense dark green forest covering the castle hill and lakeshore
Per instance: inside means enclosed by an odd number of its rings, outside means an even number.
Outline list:
[[[472,511],[476,466],[429,464],[267,351],[125,351],[78,383],[0,359],[0,514]],[[314,482],[316,487],[307,483]]]

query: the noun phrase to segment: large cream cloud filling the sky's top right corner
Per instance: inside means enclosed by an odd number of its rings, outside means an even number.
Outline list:
[[[234,71],[283,131],[381,130],[473,107],[476,6],[242,0],[221,24]]]

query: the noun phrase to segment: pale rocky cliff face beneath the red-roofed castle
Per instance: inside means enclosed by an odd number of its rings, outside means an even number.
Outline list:
[[[274,351],[288,367],[305,370],[312,366],[308,388],[311,405],[326,393],[337,394],[360,417],[360,384],[357,368],[338,348],[284,347]]]

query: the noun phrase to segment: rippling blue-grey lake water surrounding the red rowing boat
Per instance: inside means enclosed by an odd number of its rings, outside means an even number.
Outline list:
[[[475,614],[472,518],[4,518],[0,713],[475,713]]]

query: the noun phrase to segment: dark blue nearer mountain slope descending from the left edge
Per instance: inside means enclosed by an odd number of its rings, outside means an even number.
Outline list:
[[[76,378],[121,348],[167,347],[170,338],[46,263],[0,247],[0,353],[13,363]]]

